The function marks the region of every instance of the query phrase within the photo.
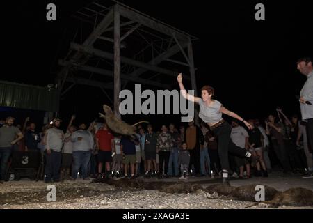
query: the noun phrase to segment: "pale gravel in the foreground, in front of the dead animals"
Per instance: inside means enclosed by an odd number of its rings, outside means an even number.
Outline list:
[[[208,199],[210,194],[198,190],[192,194],[167,194],[154,190],[122,190],[105,183],[86,180],[55,183],[56,202],[48,202],[47,184],[30,180],[10,181],[0,185],[0,206],[3,209],[243,209],[252,202],[225,199]],[[214,195],[214,194],[212,194]],[[259,204],[251,208],[268,208]],[[289,207],[280,208],[310,208]]]

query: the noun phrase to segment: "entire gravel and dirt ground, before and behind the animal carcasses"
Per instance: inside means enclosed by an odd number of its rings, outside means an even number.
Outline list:
[[[157,180],[156,178],[141,178],[145,182],[164,181],[179,182],[177,178]],[[191,177],[188,182],[197,182],[201,185],[220,183],[220,178]],[[234,187],[248,184],[261,184],[284,191],[292,187],[303,187],[313,190],[313,178],[303,179],[299,175],[280,176],[271,174],[268,178],[251,178],[239,180],[233,178],[230,181]],[[244,209],[254,204],[250,201],[225,200],[221,197],[212,197],[202,190],[193,193],[165,193],[157,190],[127,189],[115,187],[106,183],[92,183],[91,180],[65,180],[62,183],[54,183],[56,186],[56,201],[47,201],[47,184],[42,181],[22,179],[8,181],[0,185],[0,208],[35,208],[35,209]],[[210,199],[208,199],[210,197]],[[264,203],[250,208],[268,208]],[[313,206],[280,206],[279,208],[310,208]]]

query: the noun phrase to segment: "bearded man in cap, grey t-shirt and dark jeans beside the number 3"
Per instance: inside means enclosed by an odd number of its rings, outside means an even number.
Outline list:
[[[45,183],[51,183],[60,181],[60,167],[62,159],[62,146],[64,134],[62,130],[59,130],[61,120],[55,118],[52,123],[52,128],[47,130],[46,137],[46,168],[45,168]]]

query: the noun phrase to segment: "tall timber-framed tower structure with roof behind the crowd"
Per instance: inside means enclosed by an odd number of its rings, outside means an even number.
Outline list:
[[[192,41],[198,38],[118,1],[94,1],[72,16],[88,27],[58,61],[61,95],[75,84],[99,87],[107,96],[109,89],[120,116],[118,96],[128,83],[172,89],[166,83],[176,84],[178,72],[190,74],[184,80],[196,94]]]

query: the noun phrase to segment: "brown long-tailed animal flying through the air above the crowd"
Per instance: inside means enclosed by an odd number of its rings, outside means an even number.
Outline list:
[[[129,125],[128,123],[125,123],[120,118],[115,116],[111,107],[109,107],[108,105],[103,105],[103,109],[104,109],[105,115],[102,113],[99,113],[100,117],[104,118],[108,127],[113,132],[116,132],[118,134],[129,135],[129,136],[134,137],[134,135],[136,134],[135,132],[136,125],[140,123],[149,123],[148,121],[139,121],[138,123],[135,123],[134,125]]]

